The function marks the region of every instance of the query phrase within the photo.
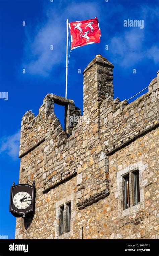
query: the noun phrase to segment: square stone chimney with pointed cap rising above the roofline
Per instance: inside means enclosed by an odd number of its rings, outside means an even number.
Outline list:
[[[113,92],[113,64],[102,55],[96,55],[95,59],[85,68],[84,74],[84,109],[83,114],[97,111],[102,101],[114,96]]]

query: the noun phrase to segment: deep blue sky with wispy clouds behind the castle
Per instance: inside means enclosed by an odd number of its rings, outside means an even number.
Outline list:
[[[114,64],[114,97],[120,100],[141,91],[156,77],[158,3],[157,0],[0,0],[0,91],[8,92],[7,101],[0,99],[0,235],[8,235],[10,239],[15,235],[9,196],[10,186],[19,179],[21,118],[30,109],[37,115],[47,93],[65,96],[66,19],[71,22],[96,16],[102,34],[99,44],[74,49],[70,56],[67,96],[83,110],[82,72],[96,54]],[[124,27],[128,18],[144,20],[144,28]],[[22,26],[23,21],[26,26]],[[63,125],[63,107],[56,107],[55,111]]]

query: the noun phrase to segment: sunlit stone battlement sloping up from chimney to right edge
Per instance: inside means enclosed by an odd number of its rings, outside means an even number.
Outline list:
[[[130,104],[111,96],[101,105],[100,135],[106,154],[111,154],[159,124],[159,71],[148,89]]]

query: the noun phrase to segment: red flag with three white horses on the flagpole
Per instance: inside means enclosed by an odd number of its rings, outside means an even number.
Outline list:
[[[69,23],[71,34],[71,50],[77,47],[99,43],[101,30],[97,17],[85,21],[74,21]]]

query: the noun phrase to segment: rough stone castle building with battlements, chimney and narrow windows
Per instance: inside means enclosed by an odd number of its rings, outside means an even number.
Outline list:
[[[157,239],[159,71],[128,104],[113,98],[113,68],[96,55],[84,70],[83,116],[48,94],[22,117],[19,183],[35,180],[36,197],[16,239]]]

